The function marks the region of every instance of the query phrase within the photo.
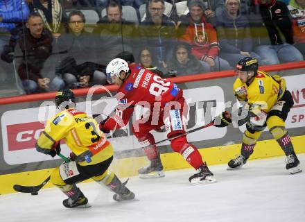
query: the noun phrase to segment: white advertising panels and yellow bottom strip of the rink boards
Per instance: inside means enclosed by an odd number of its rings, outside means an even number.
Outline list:
[[[293,138],[297,153],[305,153],[305,75],[286,72],[282,76],[285,76],[295,102],[286,119],[286,128]],[[189,105],[186,130],[209,123],[227,105],[233,107],[237,104],[232,94],[233,82],[234,78],[222,78],[178,85],[184,89],[184,96]],[[101,103],[111,100],[109,95],[99,94],[92,96],[89,101],[85,96],[78,97],[77,108],[96,117],[102,111],[112,111],[115,103],[110,102],[107,106]],[[136,110],[133,118],[137,119],[137,115],[141,114],[140,111]],[[60,157],[53,159],[35,150],[35,142],[44,129],[46,119],[52,114],[55,114],[53,101],[0,105],[0,194],[12,192],[12,185],[15,184],[38,185],[49,176],[50,169],[61,164]],[[132,121],[123,130],[116,130],[110,138],[115,150],[112,168],[123,177],[137,175],[137,169],[147,163],[141,146],[132,133],[131,123]],[[187,138],[191,144],[200,148],[200,153],[207,164],[223,164],[240,152],[245,126],[232,125],[227,128],[211,126],[191,133]],[[164,133],[153,132],[153,135],[156,142],[166,138]],[[284,155],[268,129],[261,135],[260,140],[252,158]],[[162,162],[166,171],[189,167],[179,154],[173,153],[169,142],[160,144],[158,148],[162,153]],[[65,144],[62,144],[62,154],[69,155]],[[50,185],[46,187],[48,186]]]

